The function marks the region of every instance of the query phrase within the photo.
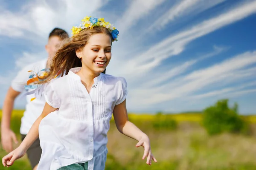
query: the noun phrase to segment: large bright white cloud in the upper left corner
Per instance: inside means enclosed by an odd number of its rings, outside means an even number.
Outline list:
[[[17,12],[4,9],[0,13],[0,35],[32,40],[35,40],[36,35],[45,39],[52,28],[72,28],[75,23],[79,25],[81,17],[92,14],[107,2],[108,0],[61,0],[61,3],[57,2],[56,8],[52,8],[49,1],[37,0],[23,5]]]

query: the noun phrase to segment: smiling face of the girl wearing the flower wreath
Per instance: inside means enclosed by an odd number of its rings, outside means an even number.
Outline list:
[[[111,59],[111,37],[107,34],[93,34],[87,44],[76,50],[76,56],[81,59],[82,68],[88,73],[100,74],[108,66]]]

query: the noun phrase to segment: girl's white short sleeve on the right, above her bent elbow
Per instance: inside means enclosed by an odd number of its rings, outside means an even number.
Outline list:
[[[125,78],[119,77],[119,81],[118,81],[118,84],[117,84],[116,105],[119,105],[120,103],[125,101],[127,94],[128,94],[127,82],[126,82]]]

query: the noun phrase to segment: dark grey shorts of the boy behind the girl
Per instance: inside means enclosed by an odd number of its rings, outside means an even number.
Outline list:
[[[21,140],[23,141],[25,137],[26,135],[21,135]],[[31,145],[31,147],[29,147],[29,149],[26,151],[26,154],[33,169],[39,163],[42,154],[39,138],[36,139],[36,141]]]

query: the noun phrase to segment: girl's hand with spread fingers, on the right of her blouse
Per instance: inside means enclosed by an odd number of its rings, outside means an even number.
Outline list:
[[[153,161],[157,162],[157,159],[155,159],[153,154],[151,153],[150,141],[149,141],[148,136],[146,136],[146,135],[142,136],[140,141],[136,144],[136,147],[140,147],[140,146],[144,147],[144,155],[143,155],[142,159],[144,160],[145,157],[147,157],[147,164],[151,165],[151,159],[153,159]]]

